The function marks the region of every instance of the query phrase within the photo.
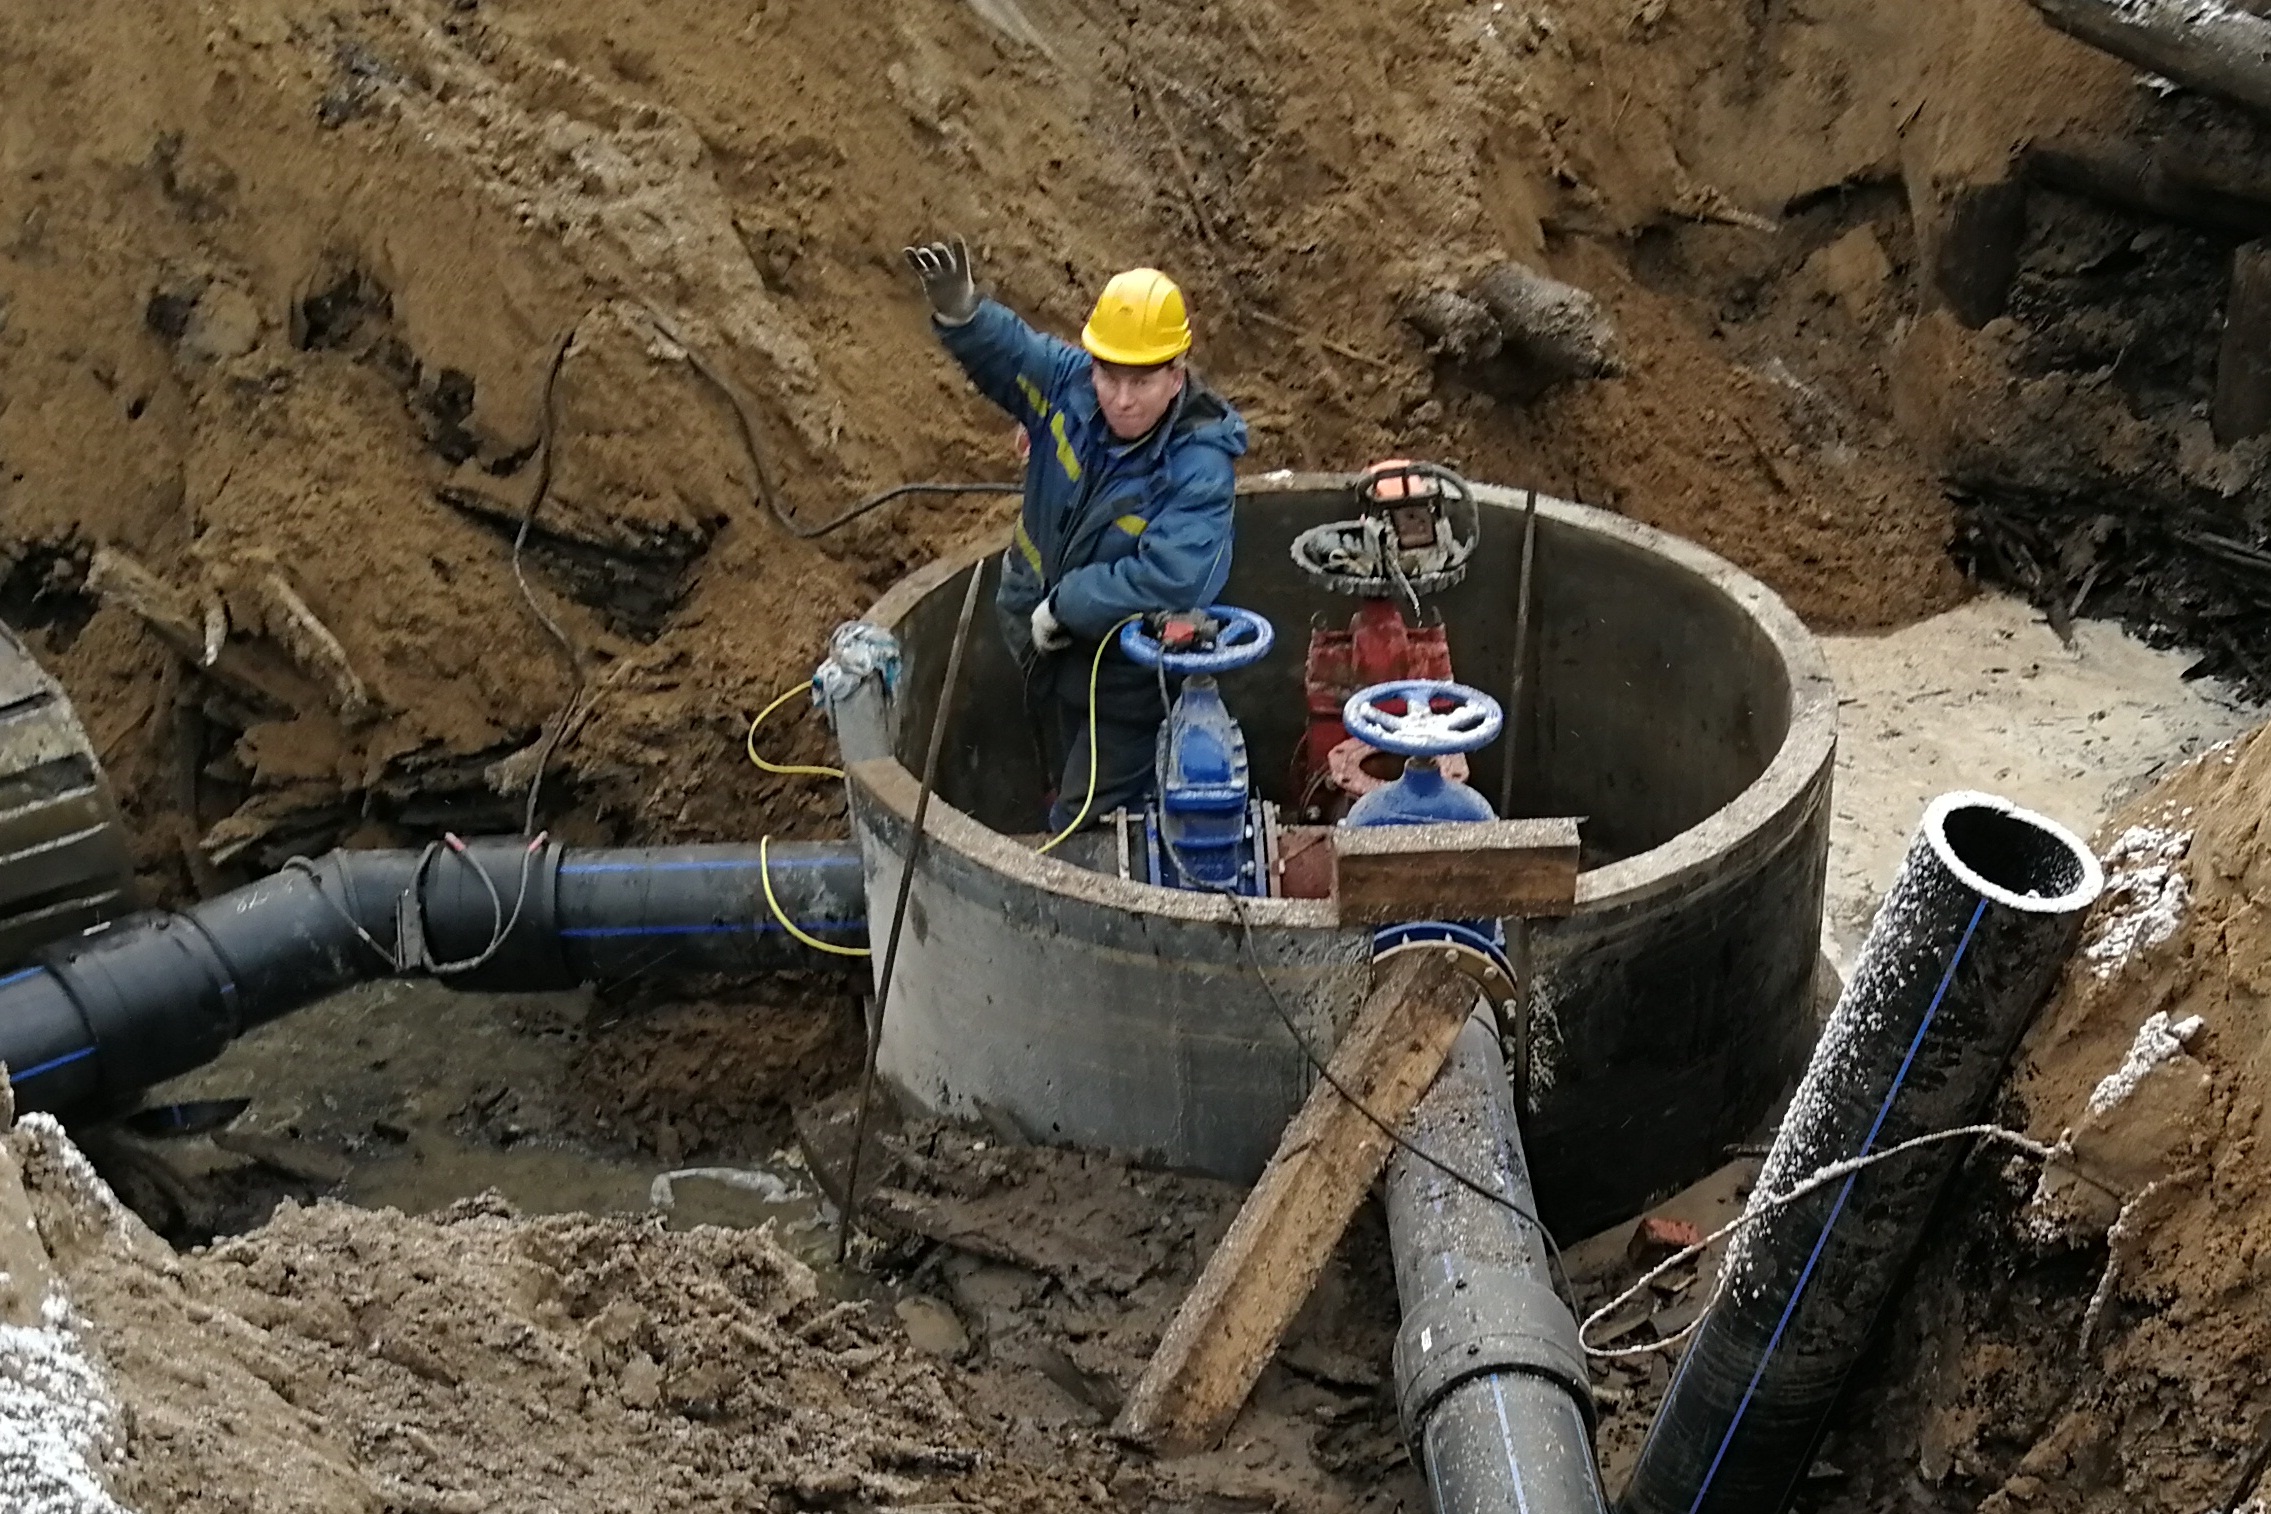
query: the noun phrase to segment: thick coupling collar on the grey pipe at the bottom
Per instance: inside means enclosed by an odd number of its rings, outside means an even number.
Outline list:
[[[1444,1394],[1490,1373],[1556,1382],[1592,1428],[1585,1348],[1560,1294],[1506,1267],[1474,1267],[1460,1258],[1451,1258],[1451,1278],[1431,1287],[1397,1330],[1397,1410],[1413,1446]]]

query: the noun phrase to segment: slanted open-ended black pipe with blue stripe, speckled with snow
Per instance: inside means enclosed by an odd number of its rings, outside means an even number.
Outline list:
[[[2096,858],[2064,826],[1992,794],[1933,801],[1755,1192],[1976,1124],[2101,888]],[[1737,1233],[1624,1514],[1790,1505],[1960,1160],[1958,1142],[1924,1146]]]

